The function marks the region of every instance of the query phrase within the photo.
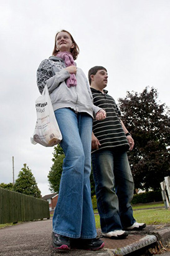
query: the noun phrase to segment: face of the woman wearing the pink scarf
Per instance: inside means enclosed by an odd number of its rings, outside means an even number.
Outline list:
[[[72,39],[67,32],[59,32],[56,37],[56,49],[60,52],[70,52],[74,47]]]

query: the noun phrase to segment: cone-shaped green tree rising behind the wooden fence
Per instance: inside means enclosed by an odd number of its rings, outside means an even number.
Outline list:
[[[14,191],[40,198],[40,190],[37,186],[37,182],[26,164],[24,164],[24,167],[18,174],[18,178],[14,184]]]

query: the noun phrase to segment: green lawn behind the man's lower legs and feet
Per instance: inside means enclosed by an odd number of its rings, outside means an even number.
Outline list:
[[[148,204],[147,204],[148,205]],[[147,208],[146,204],[135,206],[139,207],[139,209]],[[159,206],[164,206],[163,204],[160,204]],[[133,206],[133,209],[135,209]],[[158,207],[158,204],[156,205],[148,205],[149,207]],[[138,222],[144,222],[146,225],[158,225],[158,224],[166,224],[170,222],[170,210],[167,210],[165,208],[162,209],[148,209],[148,210],[135,210],[133,212],[133,216]],[[96,220],[96,226],[97,229],[100,229],[100,217],[99,215],[95,215]]]

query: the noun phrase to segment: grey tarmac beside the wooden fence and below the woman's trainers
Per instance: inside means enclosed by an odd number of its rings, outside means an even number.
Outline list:
[[[105,250],[70,250],[54,252],[51,247],[52,219],[23,222],[0,229],[0,255],[2,256],[67,256],[105,255]],[[99,254],[100,252],[100,254]],[[103,252],[103,253],[102,253]]]

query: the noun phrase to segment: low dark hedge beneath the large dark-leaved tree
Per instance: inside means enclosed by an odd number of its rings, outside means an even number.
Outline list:
[[[131,204],[146,204],[151,202],[163,201],[161,191],[149,191],[144,193],[135,194]]]

